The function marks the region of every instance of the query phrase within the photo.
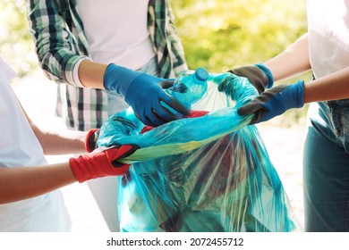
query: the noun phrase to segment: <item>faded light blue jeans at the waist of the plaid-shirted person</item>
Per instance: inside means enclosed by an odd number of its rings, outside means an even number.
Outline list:
[[[138,69],[152,76],[158,75],[157,58],[153,57],[147,64]],[[114,91],[108,91],[108,116],[115,114],[115,112],[122,112],[128,108],[128,104],[123,100],[123,96],[115,93]]]

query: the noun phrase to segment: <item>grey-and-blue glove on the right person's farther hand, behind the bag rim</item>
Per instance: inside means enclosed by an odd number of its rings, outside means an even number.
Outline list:
[[[274,77],[271,71],[263,63],[235,68],[228,72],[231,72],[238,77],[249,79],[251,84],[257,88],[259,93],[262,93],[266,87],[272,87],[274,84]]]

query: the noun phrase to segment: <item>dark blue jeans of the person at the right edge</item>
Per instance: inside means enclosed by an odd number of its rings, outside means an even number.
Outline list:
[[[306,231],[349,230],[349,99],[311,104],[303,155]]]

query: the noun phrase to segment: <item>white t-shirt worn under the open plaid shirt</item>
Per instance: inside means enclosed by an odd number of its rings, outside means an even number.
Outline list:
[[[147,29],[149,0],[78,0],[89,56],[137,70],[155,55]]]

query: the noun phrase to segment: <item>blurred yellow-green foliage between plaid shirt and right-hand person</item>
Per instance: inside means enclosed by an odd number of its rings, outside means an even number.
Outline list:
[[[175,24],[191,68],[259,63],[307,29],[304,0],[174,0]]]

